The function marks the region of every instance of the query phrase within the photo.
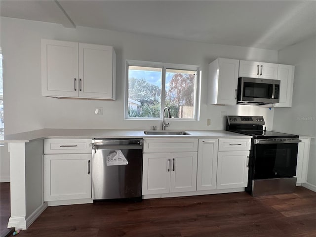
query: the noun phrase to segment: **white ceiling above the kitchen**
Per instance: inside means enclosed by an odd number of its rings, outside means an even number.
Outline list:
[[[273,50],[316,35],[314,0],[1,0],[0,15]]]

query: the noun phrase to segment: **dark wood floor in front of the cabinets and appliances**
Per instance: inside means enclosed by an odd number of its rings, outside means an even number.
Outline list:
[[[19,237],[316,237],[316,193],[246,193],[48,207]]]

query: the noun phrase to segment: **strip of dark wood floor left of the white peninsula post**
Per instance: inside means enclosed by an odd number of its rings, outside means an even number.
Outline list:
[[[7,229],[10,218],[10,183],[0,183],[0,237],[11,232]]]

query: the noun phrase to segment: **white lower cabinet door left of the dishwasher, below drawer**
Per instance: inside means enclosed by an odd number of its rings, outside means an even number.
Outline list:
[[[44,201],[91,198],[90,154],[44,155]]]

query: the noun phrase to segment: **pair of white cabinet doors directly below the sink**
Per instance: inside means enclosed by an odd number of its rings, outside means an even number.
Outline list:
[[[143,157],[143,195],[196,191],[197,152],[149,153]]]

